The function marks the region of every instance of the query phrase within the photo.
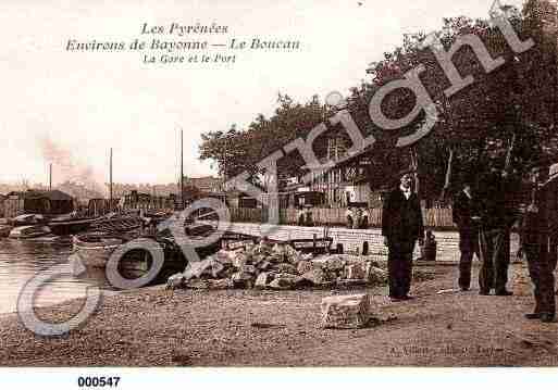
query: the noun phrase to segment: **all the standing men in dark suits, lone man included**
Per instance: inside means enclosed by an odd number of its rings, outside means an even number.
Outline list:
[[[540,169],[529,174],[532,194],[528,204],[518,204],[524,183],[506,171],[493,169],[471,181],[454,197],[452,217],[459,229],[458,285],[461,291],[471,288],[472,259],[481,262],[479,293],[509,297],[508,267],[510,236],[519,227],[520,249],[534,286],[535,307],[529,319],[555,322],[555,277],[558,239],[548,218],[556,194],[550,186],[540,183]],[[388,249],[387,268],[389,297],[393,301],[412,300],[409,294],[412,277],[412,253],[419,242],[424,244],[424,225],[420,200],[412,190],[411,172],[401,173],[400,185],[388,193],[382,211],[382,235]],[[554,203],[553,203],[554,202]]]

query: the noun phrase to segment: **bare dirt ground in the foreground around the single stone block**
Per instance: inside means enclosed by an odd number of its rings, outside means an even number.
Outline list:
[[[558,365],[558,324],[523,319],[532,306],[522,265],[510,269],[513,297],[436,294],[454,288],[457,267],[420,267],[419,299],[373,294],[380,323],[321,329],[320,302],[332,291],[151,290],[107,297],[87,325],[39,338],[14,315],[0,318],[0,365],[116,366],[547,366]],[[476,273],[476,268],[475,268]],[[78,301],[41,311],[63,318]]]

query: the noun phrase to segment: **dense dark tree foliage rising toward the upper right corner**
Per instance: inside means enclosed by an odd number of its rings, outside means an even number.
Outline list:
[[[412,153],[418,158],[421,192],[436,198],[444,188],[447,160],[454,152],[452,185],[466,176],[480,176],[493,167],[504,167],[514,139],[510,169],[521,174],[525,166],[541,161],[558,160],[556,137],[557,115],[557,33],[556,8],[550,2],[529,0],[522,12],[510,13],[521,39],[532,38],[535,46],[514,54],[498,28],[488,21],[467,16],[445,18],[436,32],[446,50],[467,34],[476,35],[492,58],[503,56],[505,64],[486,73],[473,50],[463,46],[452,58],[462,77],[471,75],[474,83],[447,98],[444,91],[449,80],[431,49],[422,48],[424,33],[405,35],[400,47],[386,52],[381,61],[369,65],[371,79],[350,89],[348,110],[364,135],[373,134],[376,143],[359,160],[368,160],[368,179],[372,188],[386,184],[387,177],[409,166]],[[439,118],[429,137],[411,148],[394,148],[397,137],[416,130],[424,121],[419,116],[398,130],[383,130],[369,116],[369,103],[374,93],[392,80],[422,65],[421,80],[437,106]],[[392,92],[382,110],[388,117],[406,116],[414,106],[414,96],[406,89]],[[281,150],[289,141],[306,137],[330,114],[313,97],[306,103],[278,96],[277,109],[271,117],[258,115],[246,128],[233,126],[228,131],[212,131],[202,136],[200,159],[211,159],[226,177],[249,172],[261,173],[257,164]],[[314,151],[325,155],[323,137]],[[355,163],[358,163],[356,161]],[[280,161],[281,176],[299,176],[305,162],[290,153]],[[467,177],[474,179],[475,177]]]

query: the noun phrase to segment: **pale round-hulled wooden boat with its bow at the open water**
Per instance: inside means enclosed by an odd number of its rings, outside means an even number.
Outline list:
[[[74,251],[83,264],[98,268],[103,268],[107,265],[112,252],[123,242],[122,238],[103,234],[77,235],[73,238]]]

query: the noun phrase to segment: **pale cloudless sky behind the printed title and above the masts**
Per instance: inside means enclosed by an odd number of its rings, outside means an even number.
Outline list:
[[[166,184],[179,172],[215,174],[200,162],[200,135],[271,115],[277,93],[297,101],[347,93],[367,65],[406,33],[443,17],[486,17],[493,0],[3,0],[0,4],[0,183],[106,183],[113,149],[116,183]],[[360,4],[359,4],[360,3]],[[521,0],[503,0],[520,7]],[[125,41],[144,23],[224,25],[207,37],[299,40],[295,52],[238,51],[234,64],[145,64],[142,54],[71,52],[69,39]],[[157,38],[169,40],[169,36]],[[175,37],[177,39],[178,37]],[[183,40],[206,39],[203,36]],[[235,54],[211,49],[214,53]]]

